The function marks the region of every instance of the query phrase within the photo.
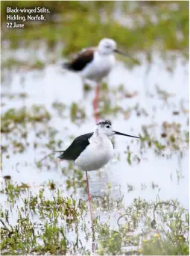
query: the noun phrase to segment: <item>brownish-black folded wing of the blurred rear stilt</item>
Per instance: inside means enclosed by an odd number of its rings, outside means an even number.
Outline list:
[[[70,63],[63,63],[63,68],[80,71],[82,70],[94,57],[94,48],[88,48],[80,51],[74,60]]]

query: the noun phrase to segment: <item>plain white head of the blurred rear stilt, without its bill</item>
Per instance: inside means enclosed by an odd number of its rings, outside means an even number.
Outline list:
[[[113,54],[113,51],[115,51],[115,49],[117,49],[117,44],[115,43],[114,40],[109,38],[102,39],[98,44],[98,52],[100,54],[104,54],[104,55]]]

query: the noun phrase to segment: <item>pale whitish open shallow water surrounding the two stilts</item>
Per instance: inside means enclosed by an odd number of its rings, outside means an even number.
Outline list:
[[[25,52],[23,52],[25,54]],[[116,116],[109,114],[104,117],[113,121],[116,131],[128,134],[142,134],[142,125],[151,125],[151,136],[160,140],[162,132],[162,123],[179,122],[182,131],[188,131],[188,113],[181,111],[181,102],[183,107],[189,109],[189,65],[183,65],[179,59],[174,72],[170,73],[165,68],[165,63],[154,54],[151,67],[146,63],[142,54],[142,65],[132,70],[127,70],[123,63],[118,62],[113,72],[108,78],[108,84],[111,90],[118,88],[123,84],[124,88],[130,93],[136,91],[136,97],[116,97],[110,96],[113,104],[124,108],[125,110],[139,104],[147,113],[140,116],[132,110],[129,118],[118,114]],[[23,76],[25,79],[23,80]],[[37,168],[36,161],[40,160],[51,150],[45,147],[49,137],[42,135],[36,137],[36,132],[49,127],[57,131],[54,135],[56,140],[63,140],[64,149],[72,142],[72,138],[80,134],[92,131],[95,125],[95,119],[92,115],[92,99],[94,90],[91,90],[85,97],[83,93],[82,81],[72,73],[60,72],[58,65],[46,66],[42,72],[14,72],[10,84],[2,84],[1,112],[4,113],[10,107],[30,107],[32,104],[42,104],[51,113],[51,120],[47,124],[38,124],[34,130],[30,124],[27,125],[29,146],[21,154],[11,154],[6,152],[2,159],[2,175],[10,175],[16,183],[27,183],[37,188],[53,180],[57,186],[61,187],[65,195],[70,195],[71,191],[66,190],[66,177],[62,169],[67,168],[68,163],[59,162],[56,158],[51,162],[46,158],[42,164],[49,161],[50,169]],[[159,90],[165,90],[170,93],[167,100],[162,99]],[[7,94],[27,93],[26,99],[7,99]],[[116,99],[115,99],[116,97]],[[57,114],[52,108],[53,102],[62,102],[66,104],[66,110],[63,111],[63,117]],[[86,119],[82,122],[71,122],[69,116],[69,107],[72,102],[76,102],[83,107],[86,113]],[[174,111],[180,111],[179,115],[174,115]],[[1,137],[2,144],[7,144],[7,139]],[[34,149],[33,143],[38,142],[39,147]],[[183,157],[179,152],[168,149],[168,157],[156,154],[153,149],[140,149],[139,140],[130,140],[124,137],[115,137],[115,158],[98,172],[89,173],[89,187],[92,196],[104,196],[109,193],[113,199],[124,196],[124,205],[129,205],[136,197],[148,199],[150,201],[159,199],[178,199],[186,208],[189,207],[189,149],[181,147]],[[133,155],[140,158],[140,162],[132,160],[130,165],[127,162],[127,146]],[[143,152],[142,152],[143,151]],[[7,154],[10,158],[7,159]],[[119,160],[118,160],[119,159]],[[72,173],[73,175],[73,173]],[[51,196],[51,193],[47,196]],[[86,193],[77,190],[75,196],[86,198]],[[4,198],[1,198],[1,202]],[[102,218],[107,218],[108,213],[101,213],[94,210]],[[114,212],[109,212],[114,215]],[[113,219],[113,225],[114,225]]]

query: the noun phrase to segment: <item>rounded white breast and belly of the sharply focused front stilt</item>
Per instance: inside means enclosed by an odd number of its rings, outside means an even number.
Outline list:
[[[108,139],[106,143],[90,143],[77,157],[75,163],[83,171],[100,169],[113,158],[113,144]]]

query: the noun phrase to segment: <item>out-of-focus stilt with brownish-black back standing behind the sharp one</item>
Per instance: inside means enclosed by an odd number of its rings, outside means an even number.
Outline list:
[[[114,40],[104,38],[100,41],[98,47],[83,49],[71,62],[63,63],[63,68],[77,72],[82,78],[86,78],[97,83],[95,99],[93,101],[95,119],[97,121],[98,96],[100,92],[99,83],[104,77],[107,77],[115,65],[114,53],[127,56],[123,51],[117,49],[117,45]]]

